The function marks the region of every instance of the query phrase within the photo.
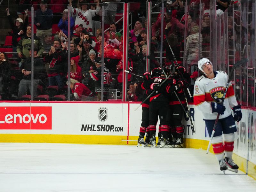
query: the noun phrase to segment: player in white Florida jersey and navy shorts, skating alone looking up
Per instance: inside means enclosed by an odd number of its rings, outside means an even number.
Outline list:
[[[224,96],[228,75],[223,71],[213,71],[212,63],[207,58],[201,58],[198,61],[198,68],[204,73],[195,82],[194,87],[194,104],[202,111],[205,125],[209,135],[220,113],[220,118],[215,128],[212,139],[212,148],[215,156],[219,160],[220,170],[238,172],[238,166],[232,160],[234,149],[234,140],[236,132],[235,121],[242,118],[241,105],[237,104],[234,89],[229,83],[228,91]],[[220,104],[224,99],[223,105]],[[232,116],[230,107],[234,111]],[[223,141],[224,140],[224,141]]]

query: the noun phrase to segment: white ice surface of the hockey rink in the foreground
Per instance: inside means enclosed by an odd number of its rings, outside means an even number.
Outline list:
[[[205,150],[0,143],[0,192],[255,192]]]

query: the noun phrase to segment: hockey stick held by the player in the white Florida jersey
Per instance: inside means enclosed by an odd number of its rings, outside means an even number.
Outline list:
[[[240,61],[237,61],[237,62],[233,65],[233,67],[231,68],[229,74],[232,74],[232,73],[234,72],[234,70],[236,69],[237,66],[241,65],[242,63],[246,63],[247,61],[249,61],[247,58],[244,58],[244,59],[242,59],[242,60],[240,60]],[[229,85],[229,82],[230,82],[230,80],[231,80],[231,77],[232,77],[232,75],[229,75],[229,77],[228,77],[228,82],[227,82],[227,85],[226,85],[226,89],[225,89],[225,92],[224,92],[223,97],[222,97],[223,100],[222,100],[221,103],[220,103],[221,105],[224,103],[225,96],[226,96],[227,91],[228,91],[228,85]],[[211,134],[211,138],[210,138],[210,141],[209,141],[207,150],[206,150],[206,154],[208,154],[208,152],[209,152],[209,150],[210,150],[210,147],[211,147],[211,144],[212,144],[212,138],[213,138],[213,135],[214,135],[214,133],[215,133],[215,128],[217,127],[217,123],[218,123],[218,121],[219,121],[219,117],[220,117],[220,113],[218,113],[217,118],[216,118],[215,123],[214,123],[214,126],[213,126],[213,128],[212,128],[212,134]]]

